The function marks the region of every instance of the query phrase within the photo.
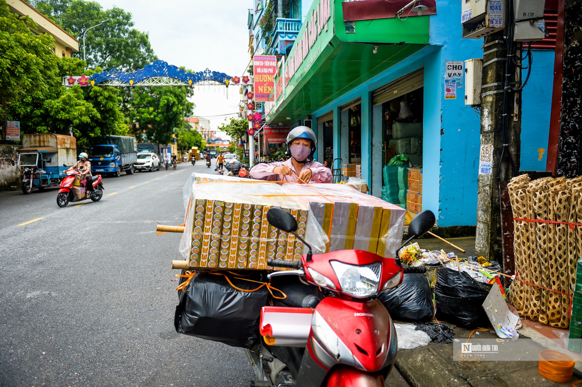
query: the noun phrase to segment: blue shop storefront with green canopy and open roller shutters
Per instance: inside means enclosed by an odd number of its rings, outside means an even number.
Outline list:
[[[386,164],[404,155],[422,171],[414,179],[422,210],[433,211],[439,226],[475,225],[480,116],[464,105],[463,80],[445,86],[445,69],[481,58],[481,41],[450,34],[460,24],[460,3],[432,1],[424,15],[402,19],[396,11],[384,18],[354,13],[356,3],[379,1],[314,1],[275,79],[280,92],[267,122],[311,120],[318,161],[360,164],[378,197]]]

